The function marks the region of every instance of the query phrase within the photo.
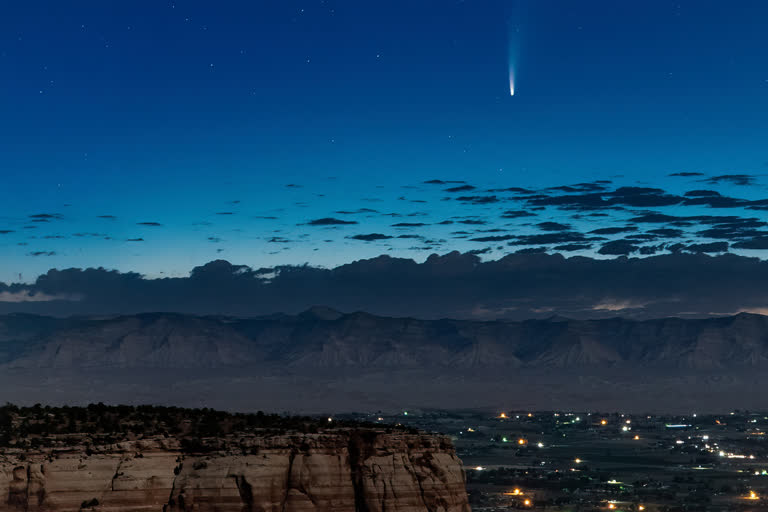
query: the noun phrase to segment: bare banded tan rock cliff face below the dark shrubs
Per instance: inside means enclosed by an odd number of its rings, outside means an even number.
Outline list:
[[[470,510],[447,438],[365,430],[241,437],[205,453],[164,438],[7,450],[0,504],[13,512]]]

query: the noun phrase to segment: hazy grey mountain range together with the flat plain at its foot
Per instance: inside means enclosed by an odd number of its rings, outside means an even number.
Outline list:
[[[0,316],[0,402],[319,414],[766,409],[768,317]]]

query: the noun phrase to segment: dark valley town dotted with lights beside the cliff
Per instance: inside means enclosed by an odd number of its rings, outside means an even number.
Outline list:
[[[768,414],[403,411],[452,436],[472,510],[766,510]],[[370,419],[370,416],[360,416]]]

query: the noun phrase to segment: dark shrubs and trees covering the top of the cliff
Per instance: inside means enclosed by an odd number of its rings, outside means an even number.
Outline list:
[[[281,416],[279,414],[230,413],[214,409],[185,409],[154,405],[103,403],[87,407],[51,407],[36,404],[0,407],[0,448],[41,448],[75,444],[111,444],[151,436],[181,439],[185,451],[203,451],[205,438],[231,435],[278,435],[288,432],[317,433],[337,429],[406,429],[353,420]],[[407,430],[407,429],[406,429]]]

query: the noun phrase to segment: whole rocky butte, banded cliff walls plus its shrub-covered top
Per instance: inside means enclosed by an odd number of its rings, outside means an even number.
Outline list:
[[[1,510],[470,510],[461,461],[444,436],[312,423],[303,432],[285,425],[241,428],[243,421],[227,415],[212,423],[209,410],[195,418],[162,408],[178,421],[168,432],[171,422],[156,421],[152,411],[126,420],[101,407],[2,409]],[[248,416],[255,415],[242,417]],[[137,434],[147,418],[151,435]],[[220,433],[202,436],[212,424]]]

